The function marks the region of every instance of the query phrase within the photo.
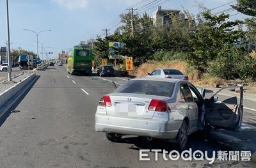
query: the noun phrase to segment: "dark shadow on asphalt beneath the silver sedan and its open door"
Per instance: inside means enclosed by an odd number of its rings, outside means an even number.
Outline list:
[[[199,131],[189,135],[188,144],[184,150],[207,151],[212,157],[212,151],[244,151],[251,153],[256,151],[256,130],[243,130],[242,132],[232,132],[226,130],[212,130],[211,132]],[[146,137],[124,137],[120,143],[132,144],[129,149],[165,149],[180,151],[178,145],[173,142],[166,142],[154,139],[148,141]],[[161,152],[159,152],[161,153]],[[163,153],[163,152],[162,152]]]

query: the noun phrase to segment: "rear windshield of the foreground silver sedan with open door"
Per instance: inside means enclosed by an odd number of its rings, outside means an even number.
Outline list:
[[[156,80],[129,80],[117,88],[115,93],[134,93],[171,97],[175,83]]]

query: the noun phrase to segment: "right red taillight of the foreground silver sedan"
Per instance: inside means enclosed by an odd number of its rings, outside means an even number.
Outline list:
[[[171,109],[163,100],[152,99],[148,111],[171,112]]]

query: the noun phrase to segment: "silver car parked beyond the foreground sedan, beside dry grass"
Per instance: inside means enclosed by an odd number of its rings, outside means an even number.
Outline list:
[[[148,73],[147,77],[163,77],[188,80],[188,75],[184,75],[180,70],[172,68],[158,68],[151,73]]]

